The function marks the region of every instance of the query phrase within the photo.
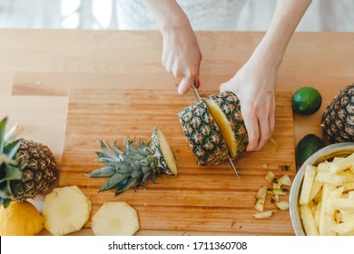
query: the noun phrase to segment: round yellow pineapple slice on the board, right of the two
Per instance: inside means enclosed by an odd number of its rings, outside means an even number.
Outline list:
[[[133,236],[139,230],[136,210],[127,202],[106,202],[93,215],[95,236]]]

